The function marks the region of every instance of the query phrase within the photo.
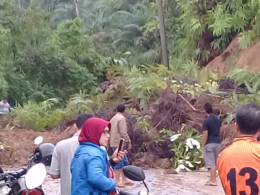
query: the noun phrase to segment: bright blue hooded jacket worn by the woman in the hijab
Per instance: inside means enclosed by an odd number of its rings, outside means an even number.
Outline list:
[[[70,165],[71,195],[108,195],[115,189],[114,179],[108,178],[106,151],[91,142],[82,142]]]

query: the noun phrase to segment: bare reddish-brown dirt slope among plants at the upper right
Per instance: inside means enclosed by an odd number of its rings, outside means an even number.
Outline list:
[[[226,73],[232,68],[260,71],[260,42],[252,44],[245,50],[239,49],[237,35],[226,50],[207,64],[214,72]]]

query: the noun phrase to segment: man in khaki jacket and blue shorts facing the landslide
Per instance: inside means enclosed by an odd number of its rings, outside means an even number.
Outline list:
[[[131,149],[131,140],[127,133],[127,125],[126,125],[126,118],[125,118],[125,105],[123,103],[116,106],[117,113],[113,116],[110,120],[111,123],[111,130],[110,130],[110,147],[113,151],[119,146],[120,139],[125,139],[125,147],[128,147],[128,150]],[[133,185],[132,182],[128,181],[126,176],[124,175],[122,168],[128,165],[128,158],[127,155],[115,166],[115,179],[116,184],[118,187],[123,187],[125,185]],[[122,174],[122,183],[120,181],[120,174]]]

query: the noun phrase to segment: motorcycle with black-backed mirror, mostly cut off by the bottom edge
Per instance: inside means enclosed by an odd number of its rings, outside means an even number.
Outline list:
[[[125,176],[133,181],[142,181],[143,184],[145,185],[145,188],[147,191],[145,190],[140,190],[138,192],[138,195],[155,195],[155,194],[152,194],[149,192],[149,189],[145,183],[145,173],[144,171],[142,170],[142,168],[140,167],[136,167],[136,166],[133,166],[133,165],[128,165],[128,166],[125,166],[123,168],[123,173],[125,174]],[[122,190],[120,188],[115,188],[115,193],[116,194],[120,194],[120,195],[134,195],[132,193],[129,193],[125,190]]]

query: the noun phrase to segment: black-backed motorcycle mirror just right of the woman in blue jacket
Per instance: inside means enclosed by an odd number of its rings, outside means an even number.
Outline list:
[[[145,173],[140,167],[128,165],[123,168],[125,176],[133,181],[144,181]]]

